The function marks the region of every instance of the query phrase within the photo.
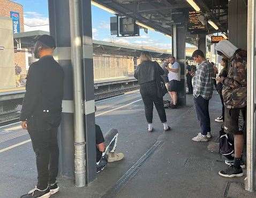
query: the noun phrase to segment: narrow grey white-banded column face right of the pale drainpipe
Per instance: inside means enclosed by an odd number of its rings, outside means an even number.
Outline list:
[[[81,1],[82,49],[84,58],[85,131],[87,183],[96,178],[95,109],[91,0]]]

